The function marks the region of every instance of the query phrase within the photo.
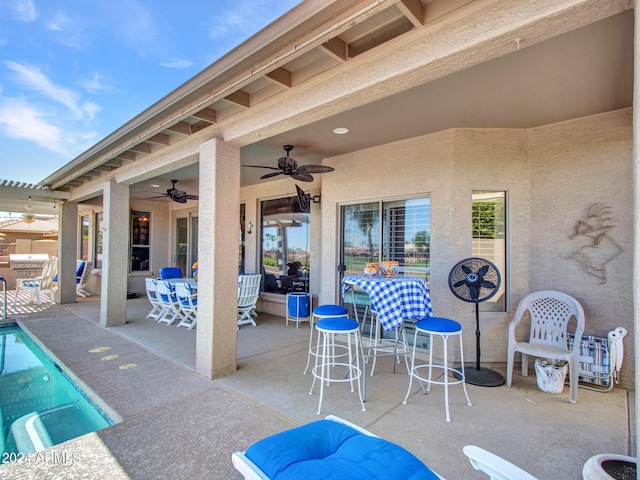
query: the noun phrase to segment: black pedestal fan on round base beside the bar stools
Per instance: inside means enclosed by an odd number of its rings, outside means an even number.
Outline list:
[[[449,273],[449,288],[460,300],[476,304],[476,366],[465,368],[466,382],[481,387],[499,387],[504,377],[480,366],[480,311],[478,304],[489,300],[500,288],[500,272],[484,258],[467,258],[458,262]]]

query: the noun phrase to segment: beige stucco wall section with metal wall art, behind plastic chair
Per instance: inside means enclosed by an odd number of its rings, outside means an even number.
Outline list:
[[[530,288],[553,288],[577,298],[589,334],[627,329],[621,373],[628,388],[634,373],[631,115],[626,109],[529,132]],[[617,251],[615,244],[622,249],[606,264],[605,283],[568,258],[589,241],[569,236],[595,203],[610,208],[614,225],[600,244],[603,260]]]

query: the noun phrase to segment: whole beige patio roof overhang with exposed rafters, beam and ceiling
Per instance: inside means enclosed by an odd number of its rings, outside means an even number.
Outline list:
[[[155,166],[189,138],[234,143],[243,164],[271,164],[291,143],[305,164],[446,128],[532,128],[626,108],[633,15],[605,20],[631,8],[628,0],[305,1],[38,186],[90,198],[115,179],[136,198],[140,179],[178,168],[197,182],[197,149],[157,170],[136,165],[153,158]],[[556,56],[567,50],[570,61]],[[331,133],[345,125],[349,135]],[[243,169],[242,184],[258,173]]]

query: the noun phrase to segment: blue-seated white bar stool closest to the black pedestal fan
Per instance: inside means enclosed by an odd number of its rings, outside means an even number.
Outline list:
[[[429,346],[429,363],[425,365],[416,365],[416,343],[418,340],[418,333],[426,333],[431,338],[431,345]],[[442,343],[444,345],[444,353],[443,353],[443,364],[437,365],[433,363],[433,336],[439,335],[442,338]],[[449,337],[452,335],[458,335],[460,338],[460,369],[456,369],[453,367],[449,367],[448,359],[447,359],[447,341]],[[419,370],[421,368],[429,369],[429,376],[424,378],[420,376]],[[433,369],[442,369],[443,371],[443,380],[433,380],[431,373]],[[456,380],[449,379],[449,373],[453,373]],[[415,334],[413,337],[413,353],[411,354],[411,377],[409,379],[409,390],[407,390],[407,395],[404,397],[403,404],[407,404],[407,399],[409,398],[409,394],[411,393],[411,384],[413,382],[413,377],[416,377],[422,386],[422,391],[427,394],[431,390],[431,384],[444,385],[444,404],[446,411],[447,422],[451,421],[451,417],[449,417],[449,385],[457,385],[458,383],[462,384],[462,388],[464,390],[464,396],[467,397],[467,405],[471,405],[471,401],[469,400],[469,395],[467,395],[467,387],[464,383],[464,357],[462,354],[462,325],[460,325],[455,320],[450,320],[448,318],[440,318],[440,317],[429,317],[424,320],[418,320],[416,322]],[[424,384],[427,384],[427,388],[425,390]]]

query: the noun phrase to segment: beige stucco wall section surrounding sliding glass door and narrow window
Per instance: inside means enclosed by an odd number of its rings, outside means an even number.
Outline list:
[[[346,203],[404,196],[431,198],[431,301],[435,315],[463,324],[467,360],[475,358],[475,310],[456,299],[448,276],[459,260],[471,256],[471,193],[506,190],[510,209],[528,211],[526,132],[523,130],[449,130],[327,160],[339,173],[323,177],[321,300],[338,290],[338,213]],[[505,168],[507,166],[507,168]],[[526,213],[509,229],[516,264],[526,272]],[[326,242],[325,242],[326,241]],[[513,277],[512,277],[513,278]],[[511,281],[511,278],[510,278]],[[513,286],[525,289],[517,276]],[[482,360],[506,361],[506,313],[482,314]]]

